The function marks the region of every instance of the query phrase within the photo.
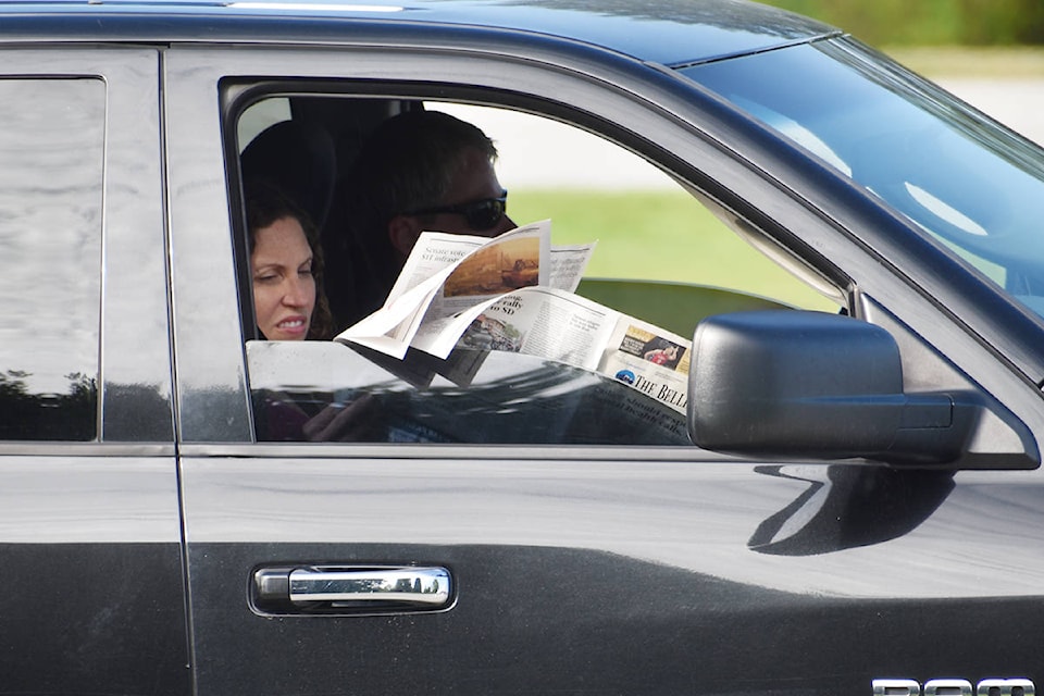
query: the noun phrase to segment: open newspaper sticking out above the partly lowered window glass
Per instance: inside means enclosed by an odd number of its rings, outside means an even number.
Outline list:
[[[399,360],[422,351],[458,384],[478,363],[451,359],[455,348],[526,353],[608,375],[684,413],[692,344],[575,295],[594,247],[551,247],[550,221],[493,239],[425,232],[384,307],[335,340]]]

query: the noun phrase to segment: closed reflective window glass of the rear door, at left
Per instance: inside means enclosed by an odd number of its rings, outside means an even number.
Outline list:
[[[0,439],[97,435],[104,101],[0,82]]]

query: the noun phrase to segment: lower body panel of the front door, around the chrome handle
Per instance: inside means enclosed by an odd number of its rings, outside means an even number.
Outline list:
[[[1028,475],[481,456],[185,468],[201,694],[859,694],[1034,664],[1015,626],[1042,618],[1044,563],[1012,520],[989,521],[999,506],[1040,529]],[[910,505],[874,509],[887,498],[870,488]],[[254,569],[314,563],[443,566],[456,602],[251,609]],[[232,644],[235,659],[202,659]]]

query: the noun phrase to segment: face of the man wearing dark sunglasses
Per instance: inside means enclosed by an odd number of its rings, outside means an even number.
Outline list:
[[[468,149],[461,154],[462,162],[457,175],[450,183],[446,196],[437,206],[459,207],[504,196],[504,188],[497,181],[497,173],[493,163],[480,150]],[[423,217],[423,221],[422,221]],[[424,215],[397,215],[389,226],[389,236],[393,246],[399,251],[402,259],[410,254],[422,232],[447,232],[460,235],[478,235],[496,237],[497,235],[514,229],[517,225],[504,214],[492,226],[476,227],[463,212],[435,212]]]

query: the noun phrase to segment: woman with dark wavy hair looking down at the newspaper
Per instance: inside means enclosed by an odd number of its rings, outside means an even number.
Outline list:
[[[323,293],[323,257],[308,215],[278,189],[247,189],[250,277],[258,330],[269,340],[333,335]]]

